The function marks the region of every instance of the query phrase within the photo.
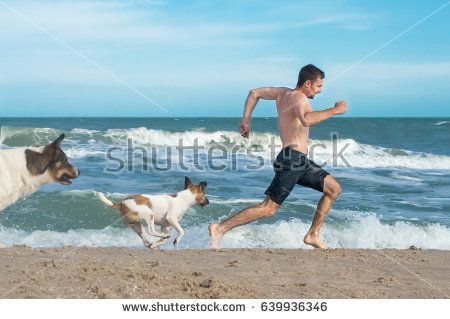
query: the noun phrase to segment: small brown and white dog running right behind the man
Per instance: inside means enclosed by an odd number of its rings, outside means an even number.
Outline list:
[[[194,185],[188,177],[185,177],[184,190],[175,195],[133,195],[116,204],[107,199],[103,193],[97,192],[97,196],[107,206],[120,211],[122,220],[142,238],[144,245],[148,248],[156,248],[164,244],[170,237],[170,227],[177,231],[173,244],[178,248],[184,235],[179,221],[186,210],[194,204],[202,208],[209,204],[205,196],[206,185],[206,182]],[[160,237],[157,242],[149,242],[141,220],[147,223],[150,235]],[[161,226],[160,232],[155,230],[155,224]]]

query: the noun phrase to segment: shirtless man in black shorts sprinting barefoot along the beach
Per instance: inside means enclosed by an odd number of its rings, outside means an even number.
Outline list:
[[[231,229],[275,215],[296,184],[323,193],[303,241],[315,248],[326,248],[320,241],[320,227],[341,193],[341,187],[330,173],[307,158],[309,127],[344,114],[347,102],[338,101],[334,107],[323,111],[312,110],[308,99],[321,93],[324,77],[322,70],[308,64],[300,70],[295,89],[265,87],[249,92],[240,125],[241,135],[244,138],[249,136],[250,119],[258,100],[275,100],[282,150],[275,159],[275,177],[265,192],[266,198],[256,206],[246,208],[218,224],[209,225],[211,248],[219,248],[223,235]]]

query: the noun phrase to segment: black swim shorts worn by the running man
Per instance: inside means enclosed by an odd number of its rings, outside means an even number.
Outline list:
[[[277,155],[273,169],[275,177],[264,194],[279,205],[289,196],[295,184],[323,192],[325,177],[330,175],[322,167],[310,161],[306,154],[290,147],[282,149]]]

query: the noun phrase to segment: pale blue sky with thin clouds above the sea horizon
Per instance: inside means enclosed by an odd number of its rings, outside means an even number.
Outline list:
[[[0,0],[0,117],[241,116],[308,63],[315,110],[449,117],[447,3]]]

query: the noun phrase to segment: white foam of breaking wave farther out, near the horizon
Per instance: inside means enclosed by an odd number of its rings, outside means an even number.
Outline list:
[[[51,142],[59,133],[58,130],[50,128],[3,127],[0,143],[10,147],[42,145]],[[233,153],[247,156],[250,150],[255,156],[263,158],[268,165],[271,165],[271,160],[281,147],[280,137],[267,132],[253,132],[249,139],[244,139],[234,131],[169,132],[145,127],[109,129],[104,132],[75,128],[67,134],[64,145],[69,158],[87,156],[105,158],[107,150],[111,147],[127,150],[129,139],[132,139],[135,147],[147,148],[149,151],[152,147],[156,147],[158,158],[166,154],[164,148],[171,148],[173,161],[179,160],[176,156],[179,155],[177,147],[180,141],[183,146],[197,145],[199,154],[202,155],[207,154],[213,147],[225,150],[229,156]],[[309,140],[308,147],[310,159],[328,167],[450,169],[450,156],[363,144],[354,139],[336,141],[314,139]],[[192,156],[191,153],[192,151],[184,151],[183,156]]]

